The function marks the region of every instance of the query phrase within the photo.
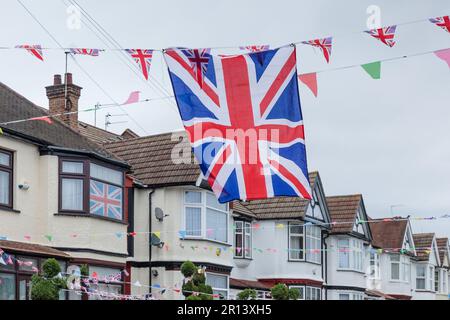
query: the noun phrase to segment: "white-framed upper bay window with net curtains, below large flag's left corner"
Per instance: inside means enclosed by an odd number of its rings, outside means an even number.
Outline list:
[[[185,191],[184,225],[189,238],[228,242],[228,206],[208,191]]]

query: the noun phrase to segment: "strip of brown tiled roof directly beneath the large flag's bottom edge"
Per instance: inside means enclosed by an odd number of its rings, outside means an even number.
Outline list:
[[[311,188],[317,182],[318,172],[309,174]],[[240,202],[246,209],[253,212],[260,220],[302,218],[305,215],[308,200],[299,197],[275,197],[263,200]]]

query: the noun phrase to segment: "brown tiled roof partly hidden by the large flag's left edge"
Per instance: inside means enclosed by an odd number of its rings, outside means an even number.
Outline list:
[[[184,132],[109,142],[104,147],[128,162],[134,176],[149,187],[195,184],[200,176]],[[172,155],[177,156],[175,161]]]

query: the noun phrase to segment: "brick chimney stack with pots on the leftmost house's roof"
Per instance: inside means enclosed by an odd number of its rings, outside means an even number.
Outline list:
[[[81,95],[81,87],[73,84],[71,73],[66,73],[62,83],[61,75],[55,74],[53,85],[46,87],[50,115],[73,112],[57,116],[72,129],[78,130],[78,100]],[[67,101],[65,99],[67,92]]]

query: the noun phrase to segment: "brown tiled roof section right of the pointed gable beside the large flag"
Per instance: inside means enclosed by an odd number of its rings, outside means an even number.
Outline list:
[[[331,221],[336,222],[331,229],[331,233],[352,232],[362,196],[357,194],[327,197],[326,199]]]

